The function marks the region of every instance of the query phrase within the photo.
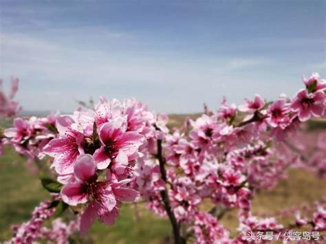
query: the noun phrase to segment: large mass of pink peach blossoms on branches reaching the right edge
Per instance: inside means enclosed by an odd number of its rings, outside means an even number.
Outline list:
[[[30,159],[51,157],[56,179],[43,179],[43,186],[80,216],[83,234],[96,219],[112,225],[123,202],[146,201],[149,210],[169,217],[175,243],[243,243],[248,230],[285,229],[252,215],[258,190],[274,188],[294,166],[325,176],[325,145],[314,151],[298,144],[304,155],[314,155],[306,162],[287,145],[302,122],[325,116],[325,80],[312,74],[303,82],[292,99],[266,102],[256,95],[239,107],[224,100],[217,111],[206,106],[199,118],[171,131],[166,115],[141,102],[100,98],[94,109],[71,115],[16,118],[4,140]],[[207,201],[239,209],[238,236],[202,210]],[[312,230],[325,230],[323,211],[319,206]]]

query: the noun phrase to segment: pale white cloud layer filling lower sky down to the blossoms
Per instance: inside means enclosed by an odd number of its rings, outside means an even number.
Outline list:
[[[55,32],[65,34],[67,30]],[[216,107],[224,95],[240,102],[256,92],[277,96],[293,90],[292,82],[280,82],[278,87],[275,77],[263,74],[264,67],[274,64],[264,58],[191,60],[173,54],[160,57],[159,51],[150,56],[121,49],[117,54],[89,45],[72,47],[52,38],[1,34],[1,76],[21,78],[19,98],[25,109],[71,111],[76,107],[74,99],[104,95],[120,99],[136,96],[158,111],[193,112],[202,109],[202,102]],[[33,93],[37,98],[31,100]]]

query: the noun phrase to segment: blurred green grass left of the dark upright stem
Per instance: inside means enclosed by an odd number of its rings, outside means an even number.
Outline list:
[[[10,239],[10,225],[28,220],[39,201],[50,199],[34,173],[25,168],[25,159],[10,148],[0,157],[0,243]],[[140,217],[135,219],[133,205],[124,205],[114,226],[96,223],[91,229],[94,243],[161,243],[169,236],[169,223],[138,206]]]

